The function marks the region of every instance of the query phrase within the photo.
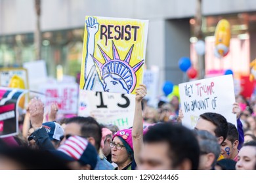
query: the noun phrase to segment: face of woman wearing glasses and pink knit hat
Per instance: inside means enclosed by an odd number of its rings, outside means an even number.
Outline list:
[[[114,144],[121,144],[123,146],[123,143],[121,142],[119,137],[115,137],[112,142]],[[125,161],[130,160],[129,154],[124,146],[121,148],[121,150],[117,149],[116,146],[114,146],[114,148],[111,149],[111,153],[112,162],[116,163],[117,165],[121,165],[122,163],[125,163]]]

